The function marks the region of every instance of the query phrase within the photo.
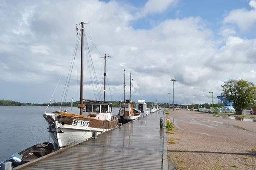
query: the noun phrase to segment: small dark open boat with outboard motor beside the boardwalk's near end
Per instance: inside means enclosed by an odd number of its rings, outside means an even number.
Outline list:
[[[54,144],[51,142],[35,144],[19,153],[14,153],[8,160],[0,163],[0,170],[5,170],[8,166],[17,167],[52,152],[54,152]]]

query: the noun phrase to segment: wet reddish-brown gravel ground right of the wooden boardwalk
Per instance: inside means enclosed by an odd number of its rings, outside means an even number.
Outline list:
[[[197,111],[169,113],[176,128],[167,137],[176,140],[168,145],[168,156],[180,169],[232,169],[233,164],[239,169],[256,168],[252,150],[256,147],[256,122],[221,119]]]

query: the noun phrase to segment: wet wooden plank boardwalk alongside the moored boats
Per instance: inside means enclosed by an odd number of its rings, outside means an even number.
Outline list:
[[[163,110],[17,169],[161,170],[166,133],[160,129],[160,116],[164,117]]]

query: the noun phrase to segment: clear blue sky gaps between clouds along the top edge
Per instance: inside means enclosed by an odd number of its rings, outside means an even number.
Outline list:
[[[141,8],[147,0],[123,0],[123,2],[128,2],[137,8]],[[237,8],[251,9],[247,0],[179,0],[176,6],[163,11],[163,13],[149,15],[138,20],[133,24],[133,27],[134,29],[152,28],[151,20],[159,22],[166,19],[201,17],[203,20],[207,20],[212,28],[217,30],[226,13]]]

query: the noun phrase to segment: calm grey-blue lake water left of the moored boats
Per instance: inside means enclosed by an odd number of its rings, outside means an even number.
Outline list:
[[[70,107],[65,107],[70,111]],[[39,106],[0,106],[0,162],[6,161],[15,153],[42,142],[53,142],[49,138],[48,123],[43,117],[46,107]],[[113,108],[113,115],[119,108]],[[58,111],[48,108],[47,113]],[[73,107],[73,113],[79,113]]]

